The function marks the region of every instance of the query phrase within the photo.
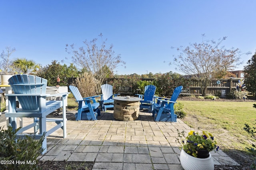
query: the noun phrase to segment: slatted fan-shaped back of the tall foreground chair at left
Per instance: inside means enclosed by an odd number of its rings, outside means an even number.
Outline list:
[[[17,74],[8,80],[15,94],[46,94],[47,80],[28,74]],[[18,96],[22,109],[39,110],[36,96]]]

